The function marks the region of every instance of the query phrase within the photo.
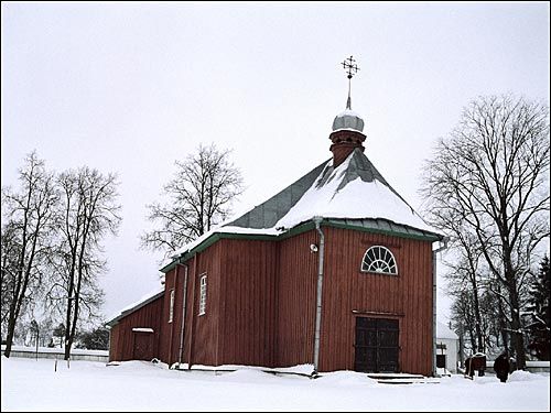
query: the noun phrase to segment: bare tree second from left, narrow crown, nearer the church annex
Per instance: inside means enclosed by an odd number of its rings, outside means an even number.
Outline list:
[[[61,203],[60,237],[51,265],[57,275],[47,294],[53,307],[65,313],[65,359],[76,336],[84,311],[96,313],[102,303],[97,275],[105,270],[101,241],[116,235],[121,218],[118,215],[117,181],[112,174],[83,166],[58,176]]]

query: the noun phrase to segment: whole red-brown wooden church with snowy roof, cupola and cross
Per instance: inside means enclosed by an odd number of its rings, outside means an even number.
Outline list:
[[[329,140],[328,161],[177,251],[107,323],[109,359],[433,374],[443,236],[366,156],[349,93]]]

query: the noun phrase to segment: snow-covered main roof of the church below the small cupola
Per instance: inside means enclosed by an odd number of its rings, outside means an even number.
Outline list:
[[[278,236],[314,217],[354,220],[367,229],[390,229],[406,236],[413,229],[417,235],[442,238],[356,149],[337,167],[333,166],[333,160],[325,161],[237,219],[227,220],[183,246],[174,252],[173,259],[198,247],[214,233]]]

